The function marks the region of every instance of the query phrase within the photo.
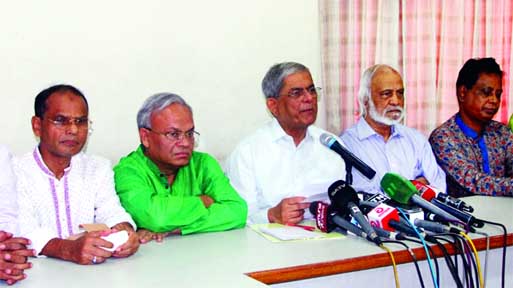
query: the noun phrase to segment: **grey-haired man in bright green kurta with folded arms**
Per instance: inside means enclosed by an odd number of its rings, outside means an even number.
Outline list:
[[[199,133],[191,107],[180,96],[148,98],[137,126],[141,145],[119,161],[114,173],[141,243],[245,226],[246,202],[212,156],[193,151]]]

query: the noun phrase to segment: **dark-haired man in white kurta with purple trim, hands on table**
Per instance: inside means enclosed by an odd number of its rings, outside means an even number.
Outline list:
[[[15,165],[21,235],[32,241],[37,255],[79,264],[135,253],[135,224],[116,195],[109,161],[81,152],[90,129],[82,92],[52,86],[37,95],[34,108],[32,130],[40,142]],[[110,229],[80,234],[80,225],[91,223]],[[113,243],[102,236],[121,230],[128,232],[128,241],[106,250]]]

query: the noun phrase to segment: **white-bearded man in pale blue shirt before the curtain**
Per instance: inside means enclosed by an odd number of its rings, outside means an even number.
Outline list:
[[[393,172],[445,192],[445,173],[426,137],[400,124],[404,118],[404,85],[399,72],[383,64],[365,70],[358,101],[361,118],[341,138],[351,152],[376,170],[376,176],[369,180],[353,169],[352,186],[357,191],[383,193],[381,178]]]

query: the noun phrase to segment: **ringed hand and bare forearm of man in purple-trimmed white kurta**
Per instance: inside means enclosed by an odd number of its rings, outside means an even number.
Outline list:
[[[101,238],[111,231],[88,232],[76,240],[54,238],[41,251],[42,255],[72,261],[82,265],[98,264],[112,256],[103,249],[112,248],[112,243]]]

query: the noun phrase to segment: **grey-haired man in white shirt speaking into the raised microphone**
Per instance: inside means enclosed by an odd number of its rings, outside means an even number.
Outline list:
[[[308,194],[326,193],[345,178],[345,165],[319,140],[320,88],[308,68],[285,62],[272,66],[262,81],[274,119],[244,139],[229,156],[226,174],[248,203],[250,223],[296,224],[304,219]],[[326,195],[327,196],[327,195]]]

